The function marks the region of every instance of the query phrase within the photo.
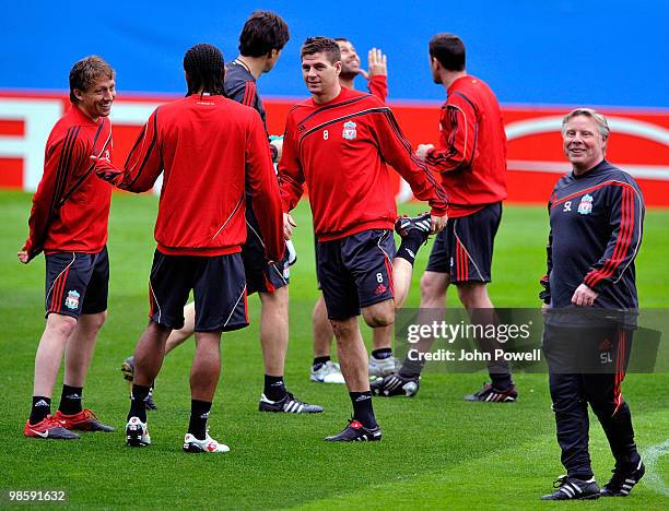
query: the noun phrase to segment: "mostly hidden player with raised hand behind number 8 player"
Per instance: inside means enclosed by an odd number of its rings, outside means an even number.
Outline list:
[[[388,66],[387,57],[378,48],[372,48],[367,54],[367,70],[360,67],[360,57],[353,43],[345,37],[334,39],[341,51],[341,72],[339,84],[342,87],[355,91],[355,78],[362,76],[367,81],[367,90],[386,103],[388,97]],[[328,320],[322,294],[314,306],[312,316],[314,333],[314,363],[312,364],[310,380],[320,383],[344,383],[339,364],[330,359],[332,340],[334,334]],[[385,377],[396,369],[397,359],[392,356],[392,325],[373,330],[373,350],[369,354],[369,376]]]

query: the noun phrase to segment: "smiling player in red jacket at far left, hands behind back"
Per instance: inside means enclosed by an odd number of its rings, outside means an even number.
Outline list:
[[[71,430],[114,430],[82,408],[82,391],[97,332],[107,316],[109,281],[106,243],[111,187],[92,175],[89,156],[109,157],[107,116],[115,96],[114,70],[99,57],[86,57],[70,70],[72,106],[47,141],[44,175],[33,195],[30,236],[17,253],[22,263],[43,251],[46,259],[47,321],[35,356],[26,437],[77,439]],[[52,416],[51,394],[63,353],[62,395]]]

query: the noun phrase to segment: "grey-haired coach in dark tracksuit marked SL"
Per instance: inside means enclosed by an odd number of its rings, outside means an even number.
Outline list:
[[[573,171],[558,181],[549,202],[543,347],[567,477],[544,498],[556,500],[600,495],[588,453],[588,404],[615,457],[614,476],[601,495],[627,495],[643,476],[620,387],[636,325],[634,259],[644,202],[634,179],[603,158],[608,134],[606,119],[594,110],[564,118]]]

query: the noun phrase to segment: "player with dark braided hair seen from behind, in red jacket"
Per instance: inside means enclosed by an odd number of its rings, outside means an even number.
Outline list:
[[[246,241],[246,189],[254,197],[267,258],[285,243],[281,201],[262,120],[224,96],[221,51],[196,45],[184,57],[187,96],[151,115],[125,169],[97,159],[98,176],[125,190],[150,190],[163,174],[155,222],[157,249],[149,282],[151,322],[134,352],[129,445],[150,443],[144,400],[163,363],[165,342],[184,325],[193,290],[196,354],[190,372],[187,452],[227,452],[207,432],[221,370],[221,332],[248,325],[242,245]],[[261,206],[258,206],[261,205]],[[193,222],[193,218],[197,222]]]

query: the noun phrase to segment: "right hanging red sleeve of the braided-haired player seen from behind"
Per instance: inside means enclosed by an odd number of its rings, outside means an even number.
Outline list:
[[[262,120],[254,111],[246,145],[246,186],[254,198],[254,213],[260,225],[265,250],[271,261],[281,261],[285,251],[281,197]]]

